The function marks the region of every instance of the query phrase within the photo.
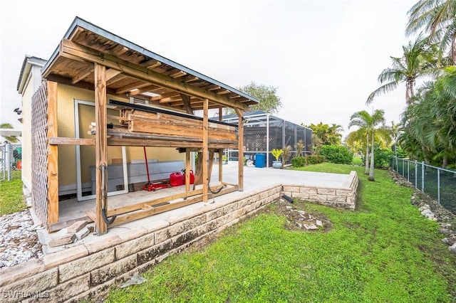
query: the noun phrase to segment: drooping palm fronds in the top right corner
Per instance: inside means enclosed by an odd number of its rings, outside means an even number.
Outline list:
[[[456,0],[419,0],[408,11],[405,33],[411,35],[424,28],[429,40],[439,44],[440,56],[450,48],[456,63]]]

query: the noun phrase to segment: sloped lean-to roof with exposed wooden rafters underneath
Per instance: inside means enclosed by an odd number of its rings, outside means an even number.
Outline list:
[[[240,90],[78,17],[43,67],[43,77],[93,90],[94,63],[106,67],[108,93],[140,98],[147,101],[146,104],[188,112],[189,100],[185,96],[190,96],[192,110],[201,110],[205,99],[209,100],[209,108],[242,110],[259,102]]]

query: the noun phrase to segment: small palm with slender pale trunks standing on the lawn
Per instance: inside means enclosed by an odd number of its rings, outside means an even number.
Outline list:
[[[375,130],[379,124],[382,124],[381,129],[385,129],[385,111],[384,110],[375,110],[372,115],[369,115],[366,110],[361,110],[361,112],[355,112],[350,117],[350,122],[348,123],[348,128],[352,126],[357,126],[360,129],[363,129],[363,132],[366,132],[366,171],[369,172],[369,181],[375,181],[373,174],[373,162],[374,162],[374,137]],[[369,136],[371,136],[371,167],[368,169],[368,145],[369,145]]]

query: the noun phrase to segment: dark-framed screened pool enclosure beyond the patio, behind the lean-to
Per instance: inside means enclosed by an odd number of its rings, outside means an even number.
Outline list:
[[[225,115],[222,121],[237,124],[237,115]],[[286,121],[261,110],[244,113],[244,157],[253,160],[257,167],[269,167],[274,161],[272,149],[291,147],[291,154],[286,163],[296,156],[296,144],[302,140],[304,150],[301,156],[310,154],[312,150],[312,129]],[[238,160],[238,150],[226,151],[228,160]],[[259,157],[260,162],[257,157]],[[264,163],[262,163],[264,159]],[[263,165],[261,165],[263,164]]]

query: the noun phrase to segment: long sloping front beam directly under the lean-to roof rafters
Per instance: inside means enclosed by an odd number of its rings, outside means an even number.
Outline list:
[[[86,60],[88,62],[105,65],[108,68],[122,70],[123,74],[137,78],[138,80],[150,82],[172,90],[177,90],[179,92],[185,93],[186,95],[194,95],[200,98],[207,98],[212,102],[215,102],[224,107],[239,108],[242,110],[248,110],[249,108],[247,104],[244,104],[242,102],[232,102],[227,97],[220,95],[220,93],[216,94],[214,92],[204,90],[200,87],[187,85],[187,83],[182,83],[180,80],[171,78],[167,75],[162,75],[155,72],[154,70],[149,70],[140,65],[130,63],[120,58],[116,58],[113,55],[103,54],[102,58],[98,50],[93,50],[92,48],[82,46],[81,44],[74,43],[67,39],[63,39],[61,41],[60,50],[60,55],[65,58],[70,58],[73,60]],[[51,73],[51,70],[46,70],[43,76],[46,78],[49,73]],[[227,93],[228,92],[230,91],[227,90]]]

